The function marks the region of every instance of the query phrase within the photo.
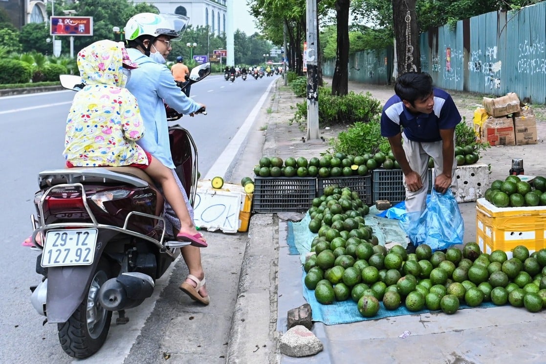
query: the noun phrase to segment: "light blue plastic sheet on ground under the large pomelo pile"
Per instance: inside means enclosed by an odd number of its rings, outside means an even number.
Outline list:
[[[376,214],[379,213],[375,207],[370,208],[370,214],[365,217],[366,225],[372,226],[373,234],[375,234],[379,240],[380,245],[390,242],[403,242],[405,241],[405,232],[399,226],[399,222],[396,219],[389,219],[384,217],[378,217]],[[308,224],[311,221],[311,217],[307,213],[305,218],[300,222],[293,223],[288,222],[288,236],[287,242],[290,246],[289,254],[299,254],[301,264],[305,263],[305,255],[311,249],[311,242],[317,234],[313,234],[308,229]],[[291,236],[292,235],[292,236]],[[296,253],[296,250],[298,253]],[[385,309],[382,302],[379,302],[379,312],[377,315],[371,318],[366,318],[360,315],[357,308],[357,303],[353,300],[348,299],[343,302],[334,302],[332,305],[322,305],[314,297],[314,291],[308,290],[305,287],[304,283],[305,271],[302,269],[301,275],[301,286],[305,300],[311,305],[312,309],[312,319],[313,321],[320,321],[325,325],[336,325],[336,324],[348,324],[354,323],[357,321],[364,320],[376,320],[385,317],[394,317],[401,315],[414,315],[421,314],[426,312],[431,312],[428,309],[423,309],[417,312],[409,311],[405,306],[402,305],[393,310],[389,311]],[[490,302],[482,303],[478,306],[479,308],[493,307]],[[469,308],[469,306],[461,305],[460,309]]]

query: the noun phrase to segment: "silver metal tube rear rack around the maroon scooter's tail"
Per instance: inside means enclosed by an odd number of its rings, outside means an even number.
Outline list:
[[[101,174],[103,174],[103,173],[104,173],[104,171],[101,172]],[[113,172],[111,172],[111,173],[116,175]],[[40,173],[40,175],[41,175],[41,173]],[[68,175],[70,175],[70,174],[68,174]],[[77,173],[76,173],[76,175],[77,175]],[[123,176],[123,177],[130,177],[130,176]],[[138,178],[133,178],[133,179],[138,180]],[[89,181],[89,180],[87,179],[87,181]],[[142,183],[144,183],[144,182],[142,182]],[[145,184],[145,186],[148,186],[148,184]],[[87,213],[89,214],[90,219],[92,220],[92,223],[82,223],[82,222],[78,222],[78,223],[54,223],[54,224],[46,224],[45,223],[44,201],[45,201],[46,197],[53,190],[64,188],[64,187],[78,187],[78,188],[81,189],[82,202],[84,204],[85,210],[87,211]],[[91,208],[89,207],[89,205],[87,203],[87,195],[85,193],[85,188],[84,188],[84,185],[82,183],[61,183],[61,184],[56,184],[55,186],[52,186],[52,187],[48,188],[46,190],[46,192],[43,194],[43,196],[41,196],[41,198],[40,198],[40,201],[38,203],[38,212],[40,214],[40,216],[39,216],[40,226],[36,226],[37,219],[34,217],[34,214],[31,215],[32,224],[33,224],[33,228],[34,228],[34,231],[32,233],[32,241],[35,241],[35,237],[38,234],[42,234],[43,236],[45,236],[45,232],[47,230],[52,230],[52,229],[62,229],[62,228],[106,229],[106,230],[113,230],[113,231],[116,231],[116,232],[121,232],[122,234],[127,234],[127,235],[131,235],[131,236],[134,236],[134,237],[138,237],[140,239],[147,240],[147,241],[155,244],[163,252],[166,252],[167,254],[169,254],[172,258],[175,258],[174,253],[170,252],[170,249],[166,246],[167,242],[164,240],[165,239],[165,220],[164,220],[163,217],[152,215],[152,214],[147,214],[147,213],[143,213],[143,212],[131,211],[131,212],[129,212],[127,214],[127,217],[125,218],[124,224],[123,224],[123,226],[121,228],[119,226],[114,226],[114,225],[99,224],[97,222],[97,218],[94,216],[93,212],[91,211]],[[129,230],[127,228],[127,226],[129,224],[129,219],[131,217],[133,217],[133,216],[144,216],[144,217],[149,217],[149,218],[152,218],[152,219],[161,220],[161,222],[163,222],[161,240],[158,241],[155,238],[152,238],[150,236],[141,234],[140,232]],[[41,246],[39,248],[43,249],[43,247],[41,247]]]

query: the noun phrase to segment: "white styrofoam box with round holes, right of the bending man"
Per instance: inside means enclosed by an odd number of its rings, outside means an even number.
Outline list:
[[[489,167],[487,164],[478,163],[460,165],[455,170],[458,182],[458,190],[455,194],[457,202],[471,202],[482,198],[489,187]]]

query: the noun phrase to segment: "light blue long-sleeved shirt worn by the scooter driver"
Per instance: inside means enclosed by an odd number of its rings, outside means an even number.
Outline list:
[[[163,103],[181,114],[191,114],[201,106],[187,97],[164,64],[154,62],[138,49],[127,49],[129,58],[139,65],[131,70],[127,89],[132,93],[144,120],[144,137],[138,144],[167,167],[175,168],[170,153],[169,124]]]

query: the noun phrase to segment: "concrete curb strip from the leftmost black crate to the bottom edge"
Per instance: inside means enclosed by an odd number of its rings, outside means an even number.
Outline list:
[[[278,219],[274,214],[254,214],[241,264],[227,364],[279,362],[277,273]]]

